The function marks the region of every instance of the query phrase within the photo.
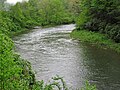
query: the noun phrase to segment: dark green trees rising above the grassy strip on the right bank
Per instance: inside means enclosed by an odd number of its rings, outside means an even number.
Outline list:
[[[120,1],[81,0],[77,28],[106,34],[120,42]]]

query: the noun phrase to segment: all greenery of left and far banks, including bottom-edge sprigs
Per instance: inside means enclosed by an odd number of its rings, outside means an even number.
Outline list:
[[[5,1],[0,1],[0,90],[54,90],[55,87],[68,90],[59,76],[47,85],[44,81],[36,81],[30,63],[13,51],[14,43],[10,36],[37,25],[74,22],[79,12],[76,5],[79,0],[29,0],[15,5],[8,4],[9,8],[5,7]],[[76,11],[72,12],[70,7]],[[96,90],[93,87],[87,83],[85,90]]]

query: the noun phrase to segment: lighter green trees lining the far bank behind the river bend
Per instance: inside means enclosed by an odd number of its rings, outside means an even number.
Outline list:
[[[5,4],[1,1],[1,7]],[[29,0],[29,2],[17,3],[6,10],[0,10],[0,29],[3,33],[20,32],[24,28],[32,28],[36,25],[58,25],[74,21],[72,13],[68,11],[68,5],[64,6],[64,0]],[[8,32],[6,32],[8,31]]]

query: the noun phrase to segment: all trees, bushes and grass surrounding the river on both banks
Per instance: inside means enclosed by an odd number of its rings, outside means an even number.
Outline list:
[[[55,86],[62,90],[57,80],[69,90],[59,76],[47,85],[36,81],[30,62],[15,53],[12,37],[35,26],[70,23],[76,24],[73,38],[120,52],[119,0],[29,0],[15,5],[0,0],[0,90],[54,90]],[[82,90],[97,89],[87,82]]]

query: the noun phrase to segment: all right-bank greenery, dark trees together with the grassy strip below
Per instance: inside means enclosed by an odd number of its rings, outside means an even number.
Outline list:
[[[81,0],[80,9],[71,36],[120,52],[119,0]]]

